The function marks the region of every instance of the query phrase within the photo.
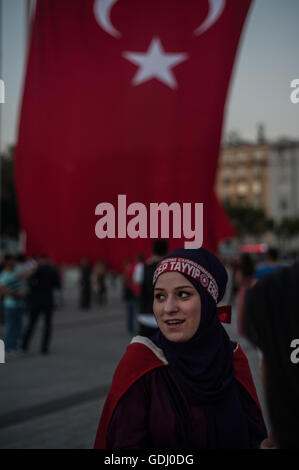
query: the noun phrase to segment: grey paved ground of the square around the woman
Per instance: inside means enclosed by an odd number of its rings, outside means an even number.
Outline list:
[[[76,286],[76,276],[70,273],[64,305],[55,312],[51,354],[39,354],[39,325],[30,352],[0,364],[2,449],[88,449],[93,445],[115,366],[130,336],[120,283],[110,289],[106,307],[94,302],[88,313],[77,307]],[[235,315],[227,329],[238,339]],[[246,341],[241,344],[263,406],[257,354]]]

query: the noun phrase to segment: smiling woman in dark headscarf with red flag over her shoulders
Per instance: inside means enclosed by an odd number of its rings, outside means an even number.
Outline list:
[[[227,273],[204,248],[154,273],[158,333],[133,338],[113,378],[95,448],[258,448],[266,429],[240,346],[219,316]]]

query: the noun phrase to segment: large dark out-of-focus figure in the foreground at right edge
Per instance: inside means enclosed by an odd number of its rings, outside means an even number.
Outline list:
[[[262,448],[299,449],[299,265],[263,277],[248,291],[243,328],[262,353],[261,378],[272,427]],[[298,344],[297,344],[298,346]]]

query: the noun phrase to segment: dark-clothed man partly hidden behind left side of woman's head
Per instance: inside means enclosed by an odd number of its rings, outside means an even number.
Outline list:
[[[150,338],[157,331],[157,322],[153,312],[153,275],[159,261],[167,255],[167,240],[157,239],[153,243],[152,256],[144,266],[143,282],[140,292],[140,315],[138,315],[139,334]]]

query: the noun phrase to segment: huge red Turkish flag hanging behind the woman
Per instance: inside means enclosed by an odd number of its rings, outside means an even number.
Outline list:
[[[149,217],[146,238],[118,238],[118,195],[148,209],[203,203],[212,250],[233,235],[214,180],[250,3],[37,0],[15,160],[28,253],[114,267],[148,253]],[[103,202],[115,208],[114,239],[95,233]],[[172,238],[171,220],[170,238],[187,241]]]

